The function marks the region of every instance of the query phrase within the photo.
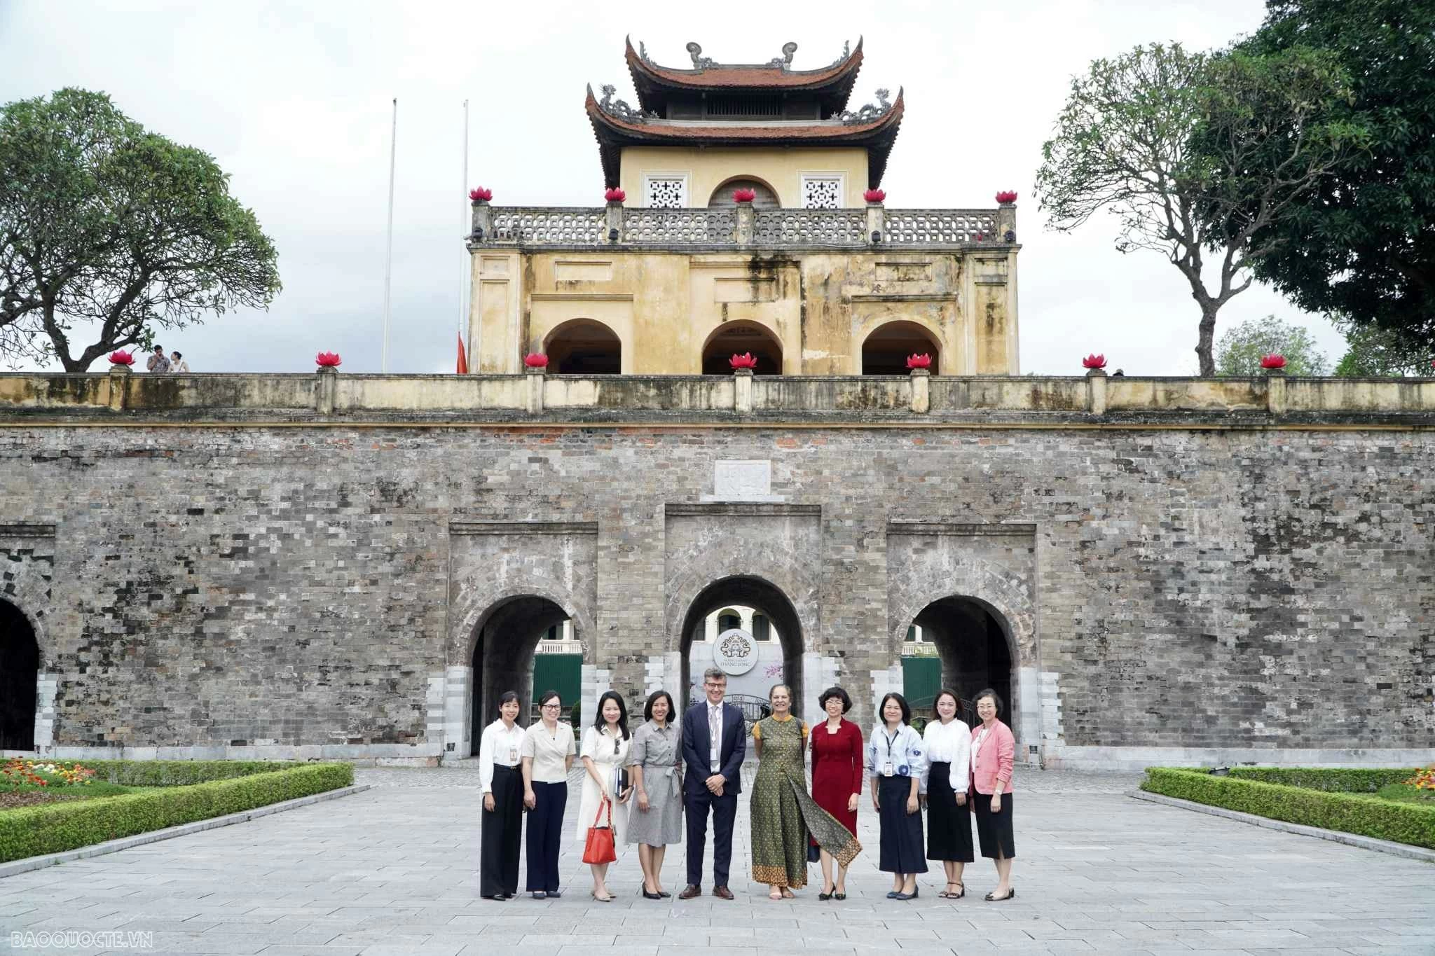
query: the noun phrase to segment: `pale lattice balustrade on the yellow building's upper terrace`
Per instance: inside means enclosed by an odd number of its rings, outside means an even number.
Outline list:
[[[469,248],[964,249],[1016,242],[1016,206],[996,209],[629,209],[474,204]]]

